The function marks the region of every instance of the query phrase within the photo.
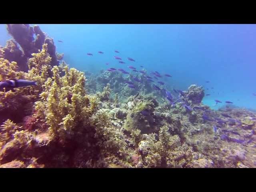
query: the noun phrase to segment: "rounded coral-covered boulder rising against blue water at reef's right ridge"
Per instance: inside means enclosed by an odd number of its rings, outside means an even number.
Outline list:
[[[198,87],[196,85],[191,85],[185,95],[192,104],[200,104],[204,98],[204,89],[202,86]]]

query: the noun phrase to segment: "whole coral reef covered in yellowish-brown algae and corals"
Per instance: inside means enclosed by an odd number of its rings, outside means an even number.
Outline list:
[[[176,90],[163,82],[171,75],[143,66],[79,71],[59,64],[63,55],[38,26],[7,28],[14,39],[0,48],[0,168],[256,167],[255,112],[212,110],[203,87]]]

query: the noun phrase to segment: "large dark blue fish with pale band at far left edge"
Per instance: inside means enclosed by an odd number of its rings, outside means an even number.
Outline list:
[[[4,91],[4,88],[6,91],[9,91],[14,88],[25,86],[38,86],[38,81],[29,81],[24,79],[0,81],[0,91]]]

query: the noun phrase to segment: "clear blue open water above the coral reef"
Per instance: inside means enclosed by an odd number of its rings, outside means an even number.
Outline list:
[[[213,109],[232,101],[256,109],[256,25],[252,24],[39,24],[54,38],[64,60],[78,70],[98,72],[128,64],[149,72],[171,74],[166,84],[186,90],[191,84],[206,90],[203,103]],[[0,45],[11,38],[0,25]],[[57,40],[62,40],[63,43]],[[120,53],[115,53],[118,50]],[[98,51],[104,52],[99,54]],[[92,53],[88,56],[86,53]],[[126,64],[118,63],[120,56]],[[136,62],[127,60],[134,58]],[[110,63],[108,66],[105,63]],[[206,83],[205,81],[210,81]],[[214,89],[211,89],[213,87]],[[223,101],[213,106],[214,99]]]

